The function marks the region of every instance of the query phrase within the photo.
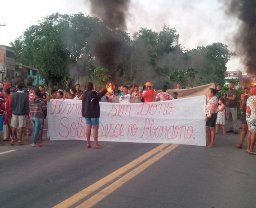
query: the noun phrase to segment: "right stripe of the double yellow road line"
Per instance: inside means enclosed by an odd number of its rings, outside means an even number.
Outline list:
[[[110,195],[113,191],[115,191],[119,187],[123,186],[124,183],[127,183],[130,179],[135,177],[137,174],[141,173],[143,170],[151,166],[154,162],[158,161],[169,152],[171,152],[177,146],[179,146],[179,144],[172,144],[168,148],[164,149],[161,153],[155,155],[154,157],[150,158],[148,161],[142,163],[140,166],[138,166],[128,174],[124,175],[122,178],[116,180],[114,183],[110,184],[108,187],[104,188],[102,191],[99,191],[97,194],[93,195],[91,198],[84,201],[82,204],[79,204],[76,208],[92,208],[99,201],[104,199],[106,196]]]

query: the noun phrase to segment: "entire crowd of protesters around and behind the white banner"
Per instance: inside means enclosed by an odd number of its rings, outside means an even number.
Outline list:
[[[89,82],[85,91],[76,84],[70,91],[62,89],[49,89],[50,94],[43,85],[34,89],[24,88],[22,83],[13,87],[12,83],[4,80],[0,84],[0,131],[4,131],[3,141],[10,141],[10,145],[24,145],[22,137],[32,134],[28,128],[29,123],[33,127],[32,147],[41,147],[44,130],[44,119],[47,115],[46,103],[50,99],[74,99],[82,100],[82,116],[85,118],[87,129],[87,147],[91,148],[90,135],[93,128],[94,148],[102,148],[97,142],[97,130],[99,123],[100,107],[99,102],[112,102],[117,98],[121,104],[130,103],[132,98],[138,98],[140,102],[158,102],[178,98],[178,93],[167,93],[167,85],[163,85],[161,92],[156,93],[151,82],[146,82],[144,86],[138,85],[106,85],[100,93],[94,91],[93,83]],[[210,88],[205,107],[207,146],[214,147],[215,135],[222,127],[223,135],[226,133],[238,134],[237,115],[237,90],[234,84],[228,84],[228,90],[222,94],[221,85],[216,89]],[[177,88],[181,89],[181,83],[177,83]],[[93,98],[93,99],[92,99]],[[247,135],[247,152],[256,154],[254,151],[256,134],[256,87],[244,88],[244,93],[240,100],[241,115],[241,135],[237,148],[243,148],[243,141]],[[225,125],[227,124],[227,125]],[[226,131],[227,126],[227,131]],[[49,132],[47,132],[49,138]],[[0,143],[0,145],[4,145]]]

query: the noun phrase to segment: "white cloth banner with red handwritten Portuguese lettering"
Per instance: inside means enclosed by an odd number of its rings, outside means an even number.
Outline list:
[[[100,107],[99,141],[206,145],[205,96],[125,105],[100,102]],[[81,108],[81,101],[48,102],[51,140],[86,140]]]

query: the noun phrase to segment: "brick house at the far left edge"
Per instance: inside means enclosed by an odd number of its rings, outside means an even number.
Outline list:
[[[0,82],[6,77],[14,82],[15,51],[12,47],[0,45]]]

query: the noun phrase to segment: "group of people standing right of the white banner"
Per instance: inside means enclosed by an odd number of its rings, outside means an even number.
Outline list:
[[[228,84],[228,90],[222,95],[221,85],[216,89],[210,88],[205,107],[205,120],[207,132],[207,146],[214,147],[215,135],[222,126],[223,135],[226,133],[238,134],[238,92],[234,84]],[[241,134],[237,148],[243,148],[243,141],[247,135],[247,152],[256,155],[254,151],[256,141],[256,87],[245,87],[240,99]],[[225,122],[226,121],[226,122]],[[225,127],[227,123],[227,131]]]

